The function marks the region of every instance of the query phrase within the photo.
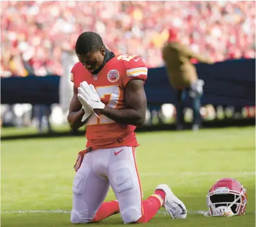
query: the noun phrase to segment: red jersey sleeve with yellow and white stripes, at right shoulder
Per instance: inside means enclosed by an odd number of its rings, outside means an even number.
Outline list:
[[[126,71],[126,75],[123,77],[124,87],[131,79],[141,79],[145,82],[147,79],[147,66],[145,65],[144,61],[142,61],[141,57],[132,56],[132,59],[129,61],[123,60],[123,62]]]

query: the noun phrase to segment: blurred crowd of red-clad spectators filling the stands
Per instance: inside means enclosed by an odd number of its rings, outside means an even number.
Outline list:
[[[1,1],[1,76],[63,74],[84,31],[162,66],[170,26],[213,61],[255,57],[255,1]]]

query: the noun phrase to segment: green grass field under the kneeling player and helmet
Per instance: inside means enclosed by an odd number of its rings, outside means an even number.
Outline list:
[[[167,183],[187,206],[186,220],[164,209],[144,226],[255,226],[255,129],[138,133],[137,160],[144,198]],[[26,139],[1,143],[1,226],[74,226],[72,166],[84,148],[83,137]],[[204,217],[209,187],[233,177],[248,190],[244,217]],[[106,200],[114,199],[112,191]],[[92,226],[121,226],[113,215]],[[79,225],[80,226],[80,225]]]

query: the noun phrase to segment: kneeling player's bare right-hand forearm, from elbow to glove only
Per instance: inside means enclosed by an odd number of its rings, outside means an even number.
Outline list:
[[[145,114],[133,109],[115,109],[105,106],[100,114],[104,114],[119,124],[133,124],[135,126],[143,126],[145,123]]]

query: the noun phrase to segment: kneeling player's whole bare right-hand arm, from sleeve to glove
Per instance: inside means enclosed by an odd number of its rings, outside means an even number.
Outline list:
[[[123,109],[105,106],[103,110],[95,110],[119,124],[133,124],[143,126],[147,109],[147,98],[142,80],[131,80],[125,86],[125,103]]]

